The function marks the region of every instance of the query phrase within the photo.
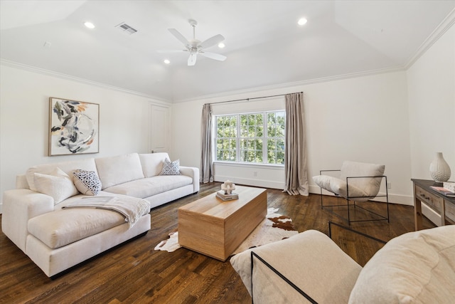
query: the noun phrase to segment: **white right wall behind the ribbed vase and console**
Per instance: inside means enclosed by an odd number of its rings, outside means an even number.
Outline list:
[[[412,177],[431,179],[443,152],[455,181],[455,26],[407,70]]]

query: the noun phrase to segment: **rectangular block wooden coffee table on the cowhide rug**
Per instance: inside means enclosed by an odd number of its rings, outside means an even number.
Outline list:
[[[267,215],[267,190],[236,186],[239,199],[222,201],[216,193],[178,208],[178,243],[226,261]]]

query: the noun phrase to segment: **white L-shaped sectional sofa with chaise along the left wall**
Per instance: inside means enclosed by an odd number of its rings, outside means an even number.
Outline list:
[[[18,175],[16,189],[4,192],[1,229],[49,277],[151,228],[151,208],[199,191],[199,171],[160,175],[167,153],[124,154],[42,164]],[[73,172],[95,172],[107,199],[134,206],[137,216],[100,208],[65,208],[90,201],[75,187]],[[77,185],[79,186],[79,185]],[[90,193],[90,191],[88,191]],[[93,194],[93,193],[92,193]]]

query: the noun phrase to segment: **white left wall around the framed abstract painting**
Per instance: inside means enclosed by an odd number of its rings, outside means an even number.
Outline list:
[[[0,88],[1,197],[35,164],[149,152],[149,107],[156,100],[6,65]],[[100,153],[48,157],[49,97],[100,104]]]

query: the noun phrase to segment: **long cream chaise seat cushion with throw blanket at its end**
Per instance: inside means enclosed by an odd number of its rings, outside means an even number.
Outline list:
[[[125,223],[124,216],[103,209],[60,209],[28,221],[28,232],[49,248],[59,248]]]

